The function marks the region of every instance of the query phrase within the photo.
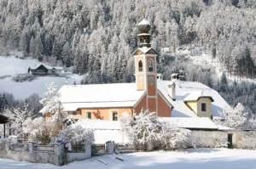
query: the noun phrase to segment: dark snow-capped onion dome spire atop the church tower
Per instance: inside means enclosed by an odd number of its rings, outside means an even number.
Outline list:
[[[143,11],[144,13],[144,11]],[[150,23],[148,20],[143,19],[140,23],[138,23],[138,30],[139,30],[139,34],[138,39],[139,39],[139,47],[143,48],[143,47],[151,47],[150,44]]]

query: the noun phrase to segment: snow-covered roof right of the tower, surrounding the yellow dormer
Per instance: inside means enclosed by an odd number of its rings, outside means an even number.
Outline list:
[[[173,100],[168,93],[168,86],[172,85],[172,83],[173,81],[158,81],[157,83],[160,93],[162,93],[174,107],[172,117],[196,117],[195,112],[190,110],[184,101],[189,95],[192,97],[193,93],[201,93],[201,91],[203,91],[204,95],[211,96],[213,99],[213,116],[223,116],[223,110],[230,107],[217,91],[207,87],[201,82],[175,81],[176,97],[175,100]]]

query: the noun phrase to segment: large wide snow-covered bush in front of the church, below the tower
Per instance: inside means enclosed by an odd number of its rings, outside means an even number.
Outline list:
[[[190,146],[189,130],[172,127],[148,110],[133,118],[125,116],[121,123],[137,149],[148,149],[148,146],[150,149],[185,149]]]

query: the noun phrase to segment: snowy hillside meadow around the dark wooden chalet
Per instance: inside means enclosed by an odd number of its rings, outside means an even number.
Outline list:
[[[14,82],[12,76],[27,73],[28,67],[41,64],[36,59],[19,59],[15,56],[0,56],[0,93],[13,93],[15,99],[24,99],[32,93],[42,96],[50,82],[61,87],[64,84],[81,82],[82,76],[68,74],[61,76],[38,76],[32,82]]]

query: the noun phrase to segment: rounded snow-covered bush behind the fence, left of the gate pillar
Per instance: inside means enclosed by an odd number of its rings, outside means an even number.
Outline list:
[[[94,133],[91,129],[84,128],[79,123],[75,123],[62,130],[56,141],[71,143],[74,147],[92,144],[94,142]]]

